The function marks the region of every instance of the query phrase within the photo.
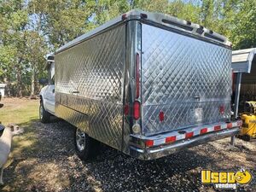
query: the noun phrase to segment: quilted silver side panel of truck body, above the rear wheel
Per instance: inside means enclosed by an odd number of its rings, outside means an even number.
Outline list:
[[[119,149],[124,67],[125,25],[115,26],[55,55],[55,92],[59,94],[56,98],[60,105],[84,113],[84,121],[89,120],[86,132],[90,137]],[[67,108],[56,113],[73,125],[81,120],[78,113],[71,114]]]

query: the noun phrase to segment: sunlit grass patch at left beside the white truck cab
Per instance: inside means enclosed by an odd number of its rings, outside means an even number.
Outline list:
[[[38,120],[38,100],[19,98],[3,98],[0,108],[0,121],[3,125],[14,123],[24,129],[24,133],[13,138],[12,150],[6,168],[12,165],[15,159],[19,159],[24,152],[35,151],[38,147],[38,137],[33,129],[32,122]],[[6,186],[8,188],[8,186]],[[4,188],[3,188],[4,189]],[[1,191],[1,189],[0,189]],[[7,189],[7,191],[9,191]]]

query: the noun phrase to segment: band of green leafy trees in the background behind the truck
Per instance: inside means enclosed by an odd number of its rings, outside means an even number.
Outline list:
[[[37,94],[46,55],[130,9],[190,20],[256,46],[255,0],[0,0],[0,82],[11,96]]]

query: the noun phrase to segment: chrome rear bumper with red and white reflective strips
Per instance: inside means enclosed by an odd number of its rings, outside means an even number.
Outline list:
[[[191,129],[186,129],[184,131],[172,131],[169,134],[160,134],[154,137],[133,137],[130,143],[131,156],[140,160],[158,159],[185,148],[194,147],[224,137],[235,136],[239,134],[240,126],[241,121],[236,121],[227,123],[226,125],[225,123],[222,125],[213,125],[213,129],[210,127],[209,131],[206,130],[207,127],[196,127],[192,129],[195,131],[193,134],[191,133]]]

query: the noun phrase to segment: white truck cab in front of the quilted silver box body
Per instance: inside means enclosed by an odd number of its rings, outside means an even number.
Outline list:
[[[50,116],[55,115],[55,61],[54,56],[47,58],[45,69],[48,71],[48,79],[40,79],[40,84],[45,85],[40,91],[39,118],[42,123],[48,123]]]

